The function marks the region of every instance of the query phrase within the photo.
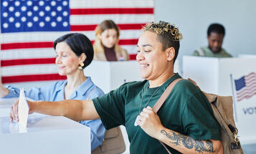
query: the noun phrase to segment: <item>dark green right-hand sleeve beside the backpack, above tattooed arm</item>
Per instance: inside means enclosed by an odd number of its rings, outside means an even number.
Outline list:
[[[197,140],[221,140],[219,124],[204,94],[197,92],[188,101],[182,115],[186,135]]]

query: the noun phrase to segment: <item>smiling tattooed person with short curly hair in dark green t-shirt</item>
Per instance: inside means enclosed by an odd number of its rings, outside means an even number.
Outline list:
[[[118,89],[93,100],[29,102],[29,112],[64,115],[73,120],[100,118],[108,130],[124,125],[130,153],[223,153],[220,130],[207,97],[189,80],[176,83],[163,106],[152,107],[166,87],[181,78],[174,73],[182,35],[164,21],[146,24],[138,39],[137,61],[145,80],[126,82]],[[17,119],[18,102],[11,110]]]

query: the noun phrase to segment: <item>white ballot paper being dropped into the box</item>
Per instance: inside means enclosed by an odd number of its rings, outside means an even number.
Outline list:
[[[27,117],[29,116],[29,105],[25,97],[24,89],[19,90],[19,125],[22,127],[27,127]]]

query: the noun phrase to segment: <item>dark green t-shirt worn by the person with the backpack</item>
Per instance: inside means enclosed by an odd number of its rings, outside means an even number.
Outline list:
[[[125,125],[131,143],[130,152],[167,153],[163,145],[147,135],[140,126],[134,126],[137,115],[148,106],[153,107],[168,85],[180,78],[175,74],[156,91],[148,88],[148,81],[128,82],[93,103],[106,129]],[[153,94],[153,95],[152,95]],[[141,99],[143,96],[143,99]],[[140,110],[140,111],[141,111]],[[164,127],[198,140],[221,140],[219,125],[214,118],[207,97],[188,80],[179,81],[157,113]],[[168,147],[171,153],[178,151]]]

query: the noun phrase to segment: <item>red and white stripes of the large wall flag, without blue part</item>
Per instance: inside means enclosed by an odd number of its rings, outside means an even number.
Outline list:
[[[120,27],[121,47],[132,58],[141,27],[154,21],[153,0],[72,0],[70,25],[72,32],[85,34],[95,40],[95,27],[112,19]],[[53,42],[69,32],[19,32],[0,36],[1,81],[3,83],[63,80],[54,64]]]

